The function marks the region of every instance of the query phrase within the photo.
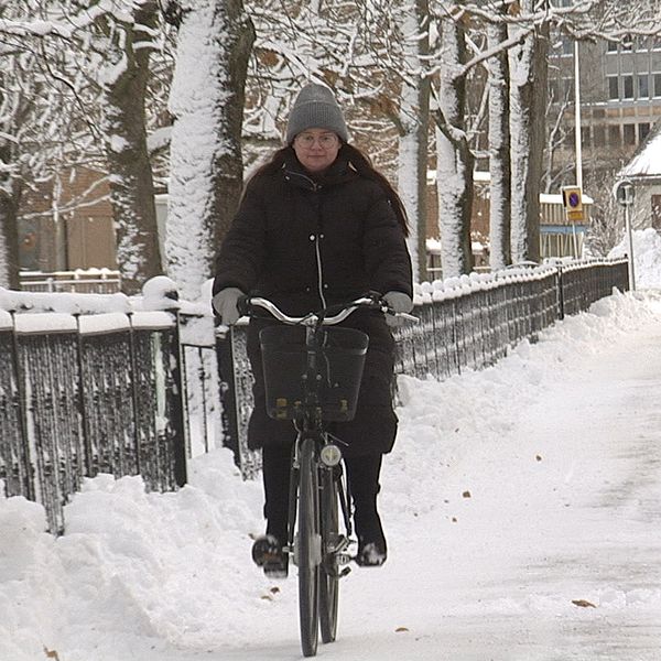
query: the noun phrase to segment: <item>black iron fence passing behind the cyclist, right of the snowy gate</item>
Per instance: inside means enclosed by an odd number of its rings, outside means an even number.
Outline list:
[[[413,311],[420,323],[394,332],[395,371],[444,379],[492,365],[521,339],[537,342],[543,328],[587,310],[614,288],[627,291],[627,260],[593,260],[424,283],[421,304]],[[235,326],[231,335],[218,336],[216,351],[228,412],[224,444],[234,449],[242,474],[251,477],[260,459],[247,446],[252,380],[246,327]]]

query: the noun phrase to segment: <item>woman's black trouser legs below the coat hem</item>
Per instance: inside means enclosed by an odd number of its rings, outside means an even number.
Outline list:
[[[380,454],[370,454],[344,459],[354,503],[354,524],[359,549],[376,542],[386,550],[386,538],[377,509],[381,458]],[[285,543],[286,540],[290,469],[291,448],[288,445],[263,448],[262,475],[267,533],[278,538],[281,543]]]

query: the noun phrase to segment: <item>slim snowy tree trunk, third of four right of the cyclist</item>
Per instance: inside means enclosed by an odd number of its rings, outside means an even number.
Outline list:
[[[507,11],[507,8],[501,10]],[[507,40],[505,23],[489,25],[488,46],[494,50]],[[489,61],[489,260],[491,270],[503,269],[511,263],[511,167],[509,130],[509,58],[503,50]]]

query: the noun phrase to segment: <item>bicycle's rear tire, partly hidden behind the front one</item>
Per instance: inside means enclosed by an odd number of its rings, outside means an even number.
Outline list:
[[[337,481],[334,472],[322,470],[322,543],[324,562],[319,573],[319,628],[322,642],[334,642],[337,636],[339,574],[335,554],[326,553],[326,544],[337,539],[339,529]]]

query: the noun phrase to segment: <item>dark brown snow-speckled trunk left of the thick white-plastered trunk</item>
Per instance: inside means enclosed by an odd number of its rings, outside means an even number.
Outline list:
[[[117,235],[117,260],[126,293],[163,272],[152,170],[147,148],[145,93],[149,79],[149,31],[155,30],[156,2],[136,11],[134,24],[116,23],[118,75],[104,86],[104,133],[110,172],[110,202]]]

